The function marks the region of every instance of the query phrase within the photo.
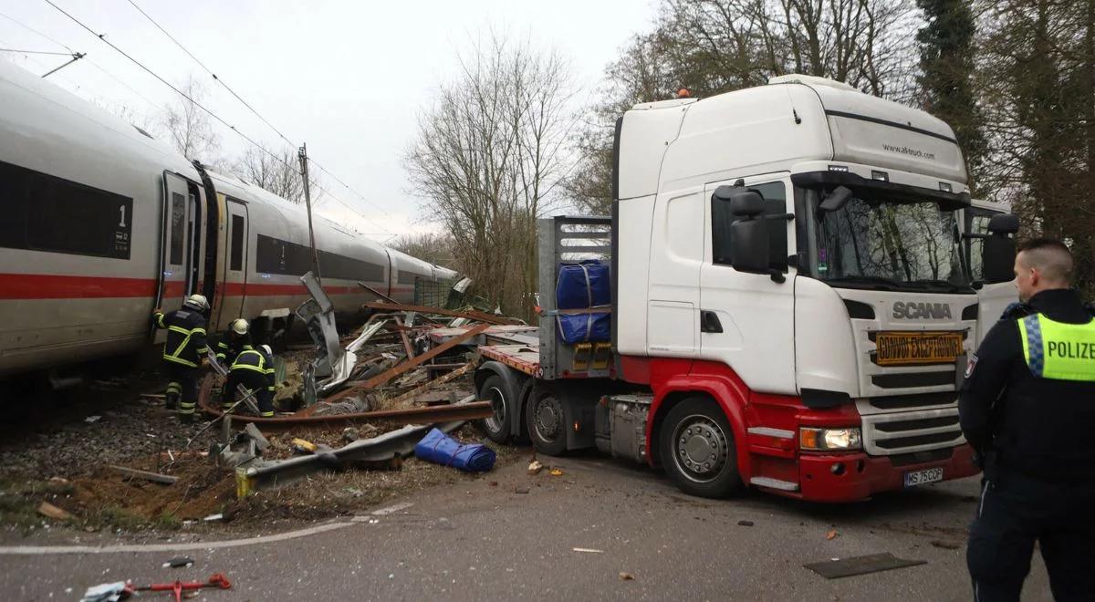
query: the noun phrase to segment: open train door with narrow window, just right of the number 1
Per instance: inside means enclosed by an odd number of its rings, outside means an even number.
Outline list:
[[[160,244],[160,276],[155,305],[164,311],[177,310],[196,285],[193,276],[195,236],[193,215],[194,197],[186,178],[163,172],[163,223]],[[157,343],[166,338],[165,331],[157,333]]]

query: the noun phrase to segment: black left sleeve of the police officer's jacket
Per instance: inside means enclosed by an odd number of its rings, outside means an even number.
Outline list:
[[[966,380],[958,396],[958,417],[966,440],[978,452],[992,447],[992,410],[1007,384],[1008,371],[1021,352],[1014,320],[998,322],[986,335],[966,368]]]

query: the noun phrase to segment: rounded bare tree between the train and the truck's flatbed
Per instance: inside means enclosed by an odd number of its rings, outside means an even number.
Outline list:
[[[461,56],[418,118],[404,164],[468,275],[509,313],[529,316],[535,289],[535,219],[570,167],[568,65],[529,42],[493,35]]]

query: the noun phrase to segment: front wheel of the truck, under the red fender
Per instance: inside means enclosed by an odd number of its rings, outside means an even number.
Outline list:
[[[661,425],[666,474],[682,491],[724,498],[741,488],[734,431],[722,408],[703,397],[677,404]]]

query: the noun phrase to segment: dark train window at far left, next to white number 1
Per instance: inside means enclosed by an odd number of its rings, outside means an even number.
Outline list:
[[[129,258],[129,197],[0,161],[0,246]]]

